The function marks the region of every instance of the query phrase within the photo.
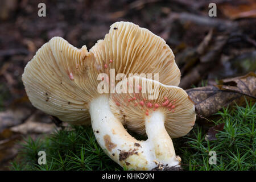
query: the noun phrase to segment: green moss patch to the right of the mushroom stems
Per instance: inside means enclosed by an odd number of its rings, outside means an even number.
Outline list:
[[[217,140],[205,140],[206,132],[196,126],[190,137],[174,140],[175,151],[181,156],[187,170],[255,170],[256,168],[256,104],[246,107],[224,108],[216,123],[225,123],[224,130],[216,134]],[[183,142],[181,142],[183,140]],[[216,152],[217,164],[209,164],[209,151]]]

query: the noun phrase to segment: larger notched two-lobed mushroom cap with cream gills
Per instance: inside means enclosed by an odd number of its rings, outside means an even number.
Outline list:
[[[178,85],[180,71],[162,38],[130,22],[110,26],[90,51],[55,37],[28,62],[22,80],[32,105],[62,121],[90,124],[89,102],[97,92],[99,73],[159,73],[159,81]]]

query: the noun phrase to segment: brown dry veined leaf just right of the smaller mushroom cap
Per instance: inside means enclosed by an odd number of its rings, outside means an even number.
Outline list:
[[[243,105],[245,98],[256,101],[256,74],[221,80],[222,85],[204,86],[188,89],[191,100],[195,103],[199,117],[209,117],[222,107],[234,104]]]

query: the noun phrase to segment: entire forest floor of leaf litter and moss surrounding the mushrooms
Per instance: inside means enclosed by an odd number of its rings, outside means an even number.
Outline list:
[[[40,2],[46,4],[46,17],[38,16]],[[174,140],[175,147],[179,148],[177,155],[183,155],[182,167],[191,170],[255,169],[255,161],[250,162],[249,159],[253,156],[255,159],[256,3],[253,0],[218,0],[217,17],[210,17],[209,2],[2,1],[0,170],[31,169],[20,168],[19,164],[35,162],[35,155],[28,154],[40,147],[52,146],[53,138],[59,141],[56,145],[59,154],[52,154],[49,159],[52,166],[47,163],[49,166],[43,169],[121,169],[98,147],[90,128],[72,127],[67,130],[69,126],[66,123],[58,123],[50,115],[35,109],[21,80],[28,61],[53,36],[61,36],[75,47],[86,45],[90,49],[117,21],[129,21],[148,28],[166,40],[175,54],[181,71],[179,86],[195,102],[197,112],[196,125],[191,133]],[[227,107],[229,109],[224,109]],[[210,131],[217,133],[212,127],[221,131],[212,140],[207,140],[205,136]],[[49,138],[52,133],[55,134]],[[68,138],[63,139],[66,134]],[[76,135],[80,138],[77,139]],[[61,142],[74,138],[77,139],[75,149],[68,154],[63,153]],[[90,140],[90,143],[83,145],[82,140]],[[183,140],[185,144],[180,146]],[[24,149],[20,143],[27,148]],[[55,149],[49,147],[49,152]],[[221,158],[218,158],[216,166],[209,166],[209,156],[204,151],[213,149]],[[27,158],[18,155],[22,151]],[[77,155],[85,155],[84,163],[92,161],[91,158],[95,159],[94,163],[79,167],[82,159]],[[106,164],[101,164],[102,159]],[[224,162],[224,159],[228,160]],[[98,164],[100,166],[97,167]]]

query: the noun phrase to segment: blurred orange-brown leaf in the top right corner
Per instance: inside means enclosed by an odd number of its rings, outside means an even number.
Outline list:
[[[230,19],[256,18],[256,1],[244,0],[240,5],[223,3],[218,5],[221,12]]]

